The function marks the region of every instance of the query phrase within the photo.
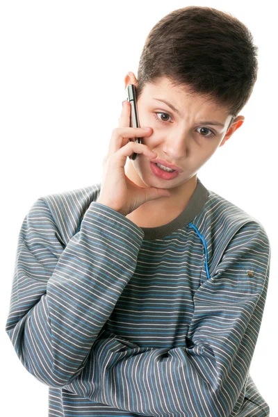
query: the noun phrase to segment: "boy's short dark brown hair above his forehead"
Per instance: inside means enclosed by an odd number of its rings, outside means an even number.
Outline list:
[[[146,83],[167,76],[236,117],[256,82],[258,47],[250,30],[230,13],[188,6],[172,11],[150,31],[138,66],[137,98]]]

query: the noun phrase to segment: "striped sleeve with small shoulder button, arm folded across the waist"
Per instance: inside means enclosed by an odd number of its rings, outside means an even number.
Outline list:
[[[140,347],[101,331],[92,347],[93,400],[152,416],[236,415],[263,316],[270,243],[252,221],[223,252],[195,292],[184,346]]]

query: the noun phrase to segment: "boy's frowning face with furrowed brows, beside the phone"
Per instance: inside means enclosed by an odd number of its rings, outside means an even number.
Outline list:
[[[125,84],[137,85],[132,72],[126,75]],[[168,101],[180,115],[158,99]],[[170,180],[156,177],[151,170],[150,159],[138,154],[135,161],[129,159],[125,167],[126,175],[138,186],[167,188],[176,197],[183,188],[186,189],[188,180],[196,181],[199,168],[244,121],[243,116],[236,117],[227,131],[232,117],[225,108],[209,103],[202,96],[190,97],[186,88],[174,88],[167,78],[162,78],[158,85],[145,85],[138,99],[138,116],[140,127],[153,129],[152,135],[142,138],[142,143],[157,153],[156,158],[179,166],[182,172]],[[165,201],[169,198],[165,197]],[[164,197],[159,200],[162,199]]]

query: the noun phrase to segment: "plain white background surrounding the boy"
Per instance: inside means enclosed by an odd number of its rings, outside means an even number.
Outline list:
[[[259,76],[223,147],[199,170],[206,188],[257,218],[272,248],[268,297],[250,373],[277,415],[277,15],[275,2],[1,1],[1,409],[47,417],[48,387],[22,366],[5,332],[17,238],[38,197],[101,181],[124,76],[137,75],[154,24],[189,5],[224,10],[259,46]],[[276,412],[275,412],[276,411]],[[202,416],[205,417],[205,416]]]

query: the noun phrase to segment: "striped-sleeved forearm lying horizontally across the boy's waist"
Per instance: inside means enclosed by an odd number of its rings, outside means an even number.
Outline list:
[[[139,347],[117,336],[104,338],[103,332],[101,337],[92,347],[97,375],[93,400],[147,416],[206,416],[211,407],[214,416],[229,415],[218,404],[209,351],[203,352],[198,368],[186,347]]]

